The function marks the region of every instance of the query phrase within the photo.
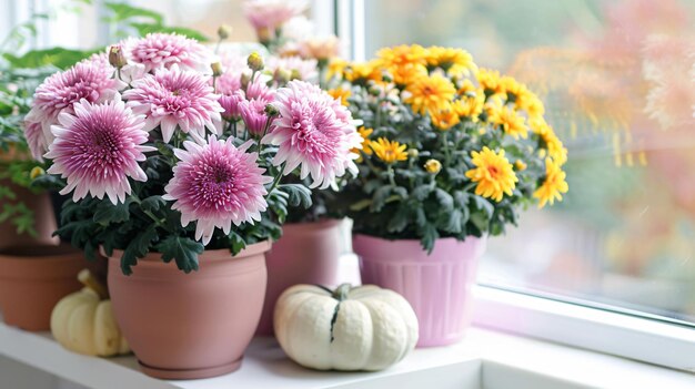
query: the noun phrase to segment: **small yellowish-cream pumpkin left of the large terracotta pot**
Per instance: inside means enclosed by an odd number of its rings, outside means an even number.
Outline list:
[[[51,332],[64,348],[88,356],[129,354],[107,289],[84,269],[78,275],[84,288],[63,297],[51,314]]]

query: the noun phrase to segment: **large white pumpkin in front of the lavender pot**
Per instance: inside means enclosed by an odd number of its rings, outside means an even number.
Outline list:
[[[278,299],[274,328],[290,358],[319,370],[382,370],[417,342],[413,308],[374,285],[343,284],[335,291],[295,285]]]

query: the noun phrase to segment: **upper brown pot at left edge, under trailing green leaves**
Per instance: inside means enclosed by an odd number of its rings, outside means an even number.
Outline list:
[[[24,187],[9,182],[8,180],[0,181],[0,186],[8,186],[10,191],[17,195],[17,199],[14,201],[7,198],[0,199],[0,209],[4,207],[4,204],[17,204],[21,201],[29,209],[33,211],[36,222],[34,228],[37,231],[37,236],[31,236],[24,233],[18,234],[17,226],[14,226],[10,221],[0,223],[0,249],[34,244],[57,245],[59,239],[58,237],[52,236],[53,232],[57,229],[56,216],[49,194],[36,194]]]

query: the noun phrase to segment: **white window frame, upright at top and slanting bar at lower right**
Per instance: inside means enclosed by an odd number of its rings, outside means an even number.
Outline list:
[[[343,42],[352,43],[343,52],[350,53],[351,60],[364,61],[364,0],[314,3],[333,3],[335,14],[315,19],[338,21],[334,31]],[[473,324],[479,327],[695,372],[692,326],[659,321],[656,316],[651,319],[648,314],[628,315],[483,285],[474,287],[473,308]]]

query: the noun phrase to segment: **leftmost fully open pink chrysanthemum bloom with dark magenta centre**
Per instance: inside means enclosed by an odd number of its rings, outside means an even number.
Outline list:
[[[113,204],[124,202],[131,191],[128,177],[148,180],[138,165],[145,160],[143,153],[154,151],[142,145],[148,141],[144,117],[134,115],[118,94],[103,104],[82,99],[73,106],[74,115],[62,112],[51,127],[56,140],[44,155],[53,161],[48,173],[68,180],[60,193],[74,191],[75,202],[88,193],[97,198],[105,194]]]

